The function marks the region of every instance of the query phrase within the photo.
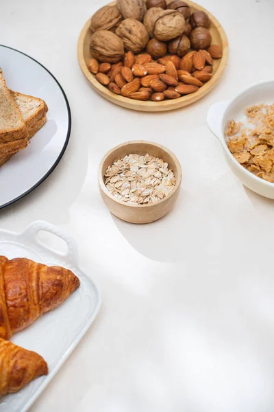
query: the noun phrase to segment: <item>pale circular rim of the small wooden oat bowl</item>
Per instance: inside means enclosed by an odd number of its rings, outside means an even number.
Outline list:
[[[105,183],[103,181],[103,177],[102,177],[102,171],[103,171],[103,163],[105,163],[105,161],[108,159],[108,157],[110,157],[110,155],[112,155],[112,153],[114,152],[114,150],[117,150],[119,148],[125,148],[125,146],[130,146],[132,144],[149,144],[151,146],[155,146],[156,148],[161,149],[163,152],[166,152],[170,157],[172,157],[176,168],[177,168],[177,174],[178,174],[178,179],[176,179],[176,185],[174,187],[174,190],[165,198],[161,199],[159,202],[155,202],[155,203],[149,203],[149,205],[135,205],[135,204],[128,204],[126,202],[120,201],[119,199],[114,198],[114,196],[112,196],[112,194],[108,191],[108,189],[105,187]],[[129,153],[130,155],[130,153]],[[173,170],[174,172],[174,170]],[[110,149],[105,156],[103,157],[103,159],[101,160],[100,164],[99,164],[99,169],[98,169],[98,183],[99,183],[99,187],[101,188],[101,190],[103,191],[104,194],[106,194],[106,196],[108,196],[108,198],[110,198],[110,200],[119,203],[119,205],[123,205],[126,207],[141,207],[142,209],[145,209],[147,207],[155,207],[156,205],[161,205],[162,203],[164,203],[165,201],[167,201],[171,196],[173,196],[175,194],[175,192],[177,192],[177,190],[179,189],[181,183],[182,183],[182,168],[181,165],[179,163],[179,160],[177,159],[177,157],[174,155],[173,152],[171,152],[171,150],[169,150],[168,148],[166,148],[165,146],[162,146],[161,144],[158,143],[154,143],[154,141],[147,141],[147,140],[132,140],[132,141],[125,141],[125,143],[119,144],[117,146],[115,146],[114,148]]]

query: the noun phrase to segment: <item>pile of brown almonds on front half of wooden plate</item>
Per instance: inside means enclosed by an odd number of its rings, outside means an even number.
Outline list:
[[[211,45],[208,50],[188,52],[183,58],[164,56],[157,61],[149,54],[126,52],[123,62],[88,62],[88,70],[98,82],[112,93],[134,100],[177,99],[195,93],[212,78],[213,58],[222,56],[221,47]]]

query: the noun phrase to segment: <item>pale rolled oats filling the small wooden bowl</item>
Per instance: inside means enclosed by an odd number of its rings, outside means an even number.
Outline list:
[[[116,159],[105,172],[105,186],[114,198],[145,205],[156,203],[173,192],[173,171],[158,157],[127,155]]]

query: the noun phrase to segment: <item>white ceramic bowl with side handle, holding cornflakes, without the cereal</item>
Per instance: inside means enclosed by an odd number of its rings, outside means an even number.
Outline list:
[[[213,104],[208,111],[208,127],[221,141],[232,171],[242,183],[253,192],[274,199],[274,183],[269,183],[246,170],[229,152],[225,141],[225,129],[229,120],[245,122],[245,108],[251,104],[274,103],[274,80],[252,84],[239,93],[236,98]]]

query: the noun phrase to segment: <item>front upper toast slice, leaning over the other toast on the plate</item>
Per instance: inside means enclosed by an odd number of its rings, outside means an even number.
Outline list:
[[[27,126],[0,69],[0,144],[27,138]]]

